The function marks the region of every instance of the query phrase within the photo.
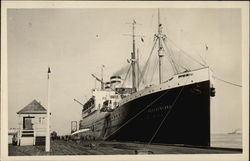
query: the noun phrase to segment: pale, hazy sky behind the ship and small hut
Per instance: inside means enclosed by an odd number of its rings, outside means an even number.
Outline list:
[[[8,125],[17,127],[16,112],[36,99],[47,106],[47,68],[51,68],[52,131],[69,134],[81,119],[81,105],[98,83],[127,66],[132,51],[131,23],[136,20],[140,62],[145,62],[157,32],[157,9],[8,9]],[[161,9],[167,37],[214,74],[242,84],[240,9]],[[205,46],[208,50],[205,50]],[[156,54],[155,54],[156,55]],[[167,61],[167,60],[166,60]],[[184,60],[183,60],[184,61]],[[193,62],[186,59],[192,64]],[[143,63],[142,63],[143,64]],[[164,79],[171,77],[168,66]],[[155,75],[156,77],[157,75]],[[215,80],[211,131],[242,127],[241,87]]]

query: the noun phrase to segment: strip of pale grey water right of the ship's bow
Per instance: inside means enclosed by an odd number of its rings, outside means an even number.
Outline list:
[[[242,148],[242,134],[212,134],[212,147]]]

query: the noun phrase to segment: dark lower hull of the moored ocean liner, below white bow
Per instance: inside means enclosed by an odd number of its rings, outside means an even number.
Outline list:
[[[84,123],[83,138],[210,146],[210,81],[151,93]]]

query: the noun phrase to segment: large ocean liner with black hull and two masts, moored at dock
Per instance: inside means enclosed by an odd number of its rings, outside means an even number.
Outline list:
[[[132,87],[122,83],[130,72],[123,79],[113,75],[107,82],[92,74],[101,83],[101,89],[93,89],[92,97],[82,104],[82,119],[76,133],[84,140],[210,146],[210,101],[215,96],[211,70],[206,65],[196,69],[179,65],[183,70],[177,70],[158,11],[158,32],[149,57],[157,47],[159,83],[139,88],[148,61],[141,71],[135,51],[135,25],[133,21],[129,60]],[[167,55],[175,73],[163,80],[162,58]]]

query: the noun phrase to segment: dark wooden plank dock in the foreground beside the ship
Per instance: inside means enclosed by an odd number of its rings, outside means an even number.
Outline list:
[[[39,155],[117,155],[117,154],[240,154],[242,149],[143,144],[107,141],[51,141],[51,152],[44,146],[9,145],[9,156]]]

